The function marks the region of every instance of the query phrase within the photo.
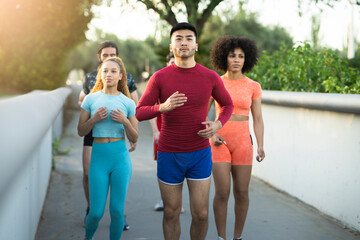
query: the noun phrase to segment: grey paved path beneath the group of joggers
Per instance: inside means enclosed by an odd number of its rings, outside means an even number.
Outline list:
[[[52,172],[48,195],[38,226],[37,240],[84,239],[86,201],[82,188],[82,138],[77,135],[79,112],[66,112],[72,121],[66,127],[61,149],[72,146],[68,155],[56,157],[56,169]],[[160,198],[156,181],[156,162],[153,159],[150,124],[139,123],[140,137],[136,151],[131,153],[133,174],[126,201],[127,222],[131,228],[122,239],[164,239],[162,212],[153,207]],[[217,240],[212,212],[214,184],[211,183],[209,230],[207,240]],[[181,238],[190,239],[191,215],[186,184],[184,185],[181,214]],[[232,236],[234,216],[233,197],[229,202],[228,239]],[[354,206],[355,207],[355,206]],[[110,216],[108,207],[95,234],[96,240],[109,239]],[[250,183],[250,209],[243,233],[244,240],[355,240],[356,233],[342,228],[318,211],[285,194],[279,193],[262,181],[252,178]]]

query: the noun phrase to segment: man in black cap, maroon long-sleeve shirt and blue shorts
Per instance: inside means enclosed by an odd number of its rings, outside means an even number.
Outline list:
[[[148,120],[162,114],[157,176],[164,202],[165,240],[180,238],[183,181],[186,178],[192,215],[190,236],[203,240],[208,227],[211,176],[209,138],[230,118],[233,105],[219,75],[195,62],[196,29],[176,24],[170,32],[175,63],[157,71],[139,101],[136,117]],[[221,106],[215,122],[207,121],[209,98]],[[159,105],[155,103],[160,102]]]

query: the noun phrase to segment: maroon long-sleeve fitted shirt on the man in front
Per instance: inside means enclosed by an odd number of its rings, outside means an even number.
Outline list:
[[[187,102],[169,112],[160,113],[158,103],[165,102],[174,92],[184,93]],[[221,106],[218,120],[224,125],[229,120],[233,103],[220,76],[196,64],[180,68],[175,64],[157,71],[149,80],[136,108],[139,121],[162,114],[159,152],[192,152],[209,147],[209,140],[197,133],[205,129],[208,102],[212,96]]]

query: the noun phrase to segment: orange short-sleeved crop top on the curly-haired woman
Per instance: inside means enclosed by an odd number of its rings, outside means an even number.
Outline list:
[[[234,104],[233,114],[249,116],[252,100],[261,97],[261,86],[258,82],[244,76],[241,79],[230,80],[221,77],[226,89],[230,93]],[[215,103],[216,115],[220,112],[220,106]]]

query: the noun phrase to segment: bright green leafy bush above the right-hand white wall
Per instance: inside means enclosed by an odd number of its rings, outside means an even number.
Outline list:
[[[360,71],[332,50],[315,51],[305,42],[263,53],[248,76],[263,89],[298,92],[360,93]]]

